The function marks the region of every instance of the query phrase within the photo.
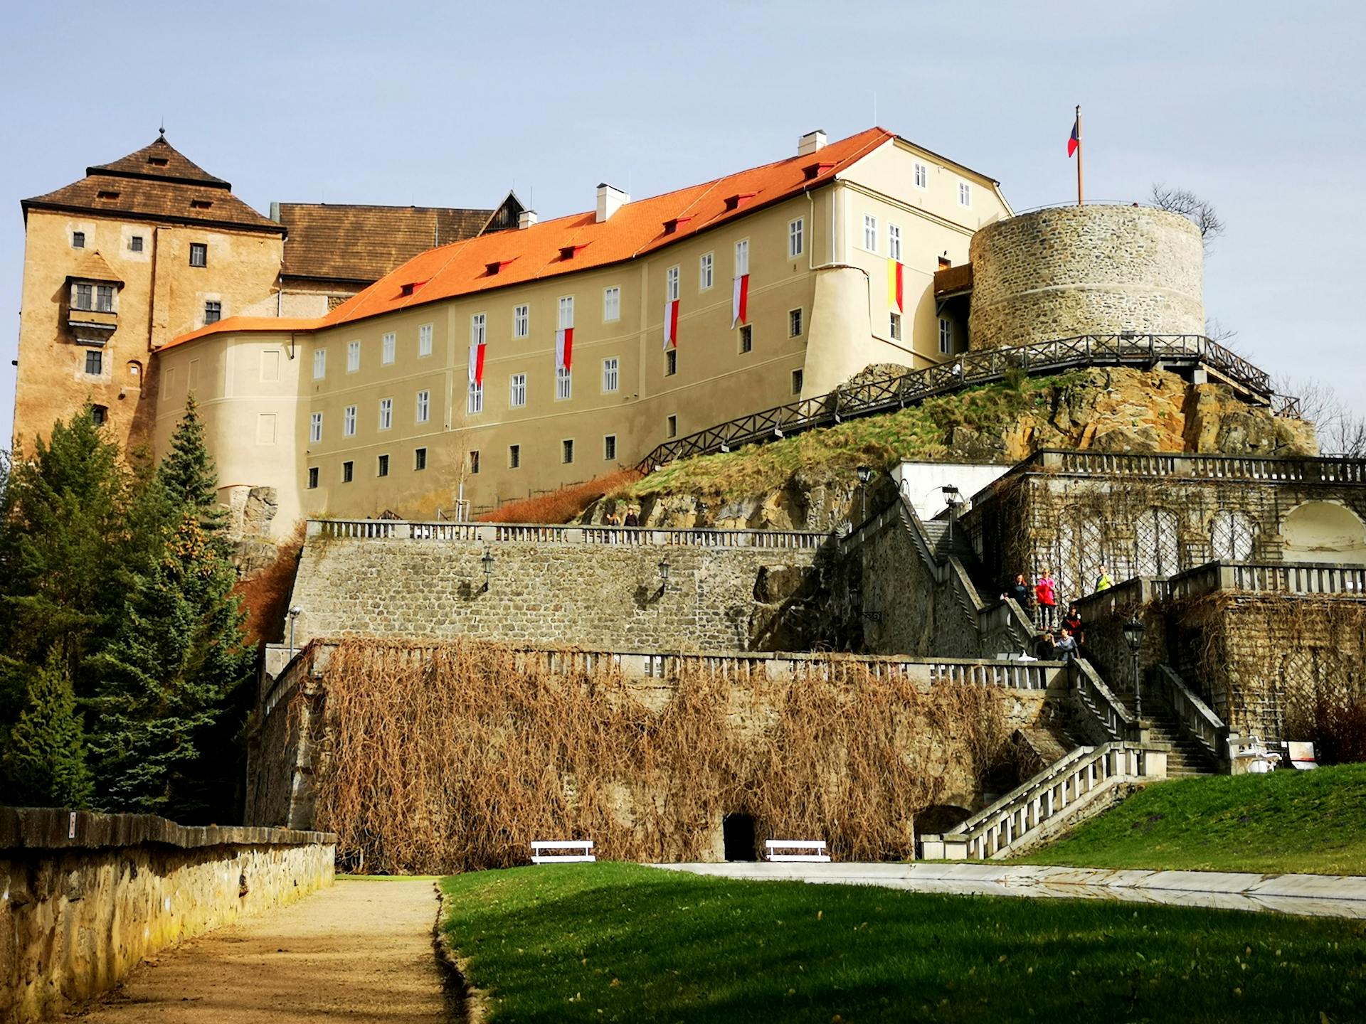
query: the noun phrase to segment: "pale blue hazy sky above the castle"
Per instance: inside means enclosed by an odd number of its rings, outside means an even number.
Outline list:
[[[1154,182],[1228,225],[1210,318],[1274,374],[1366,388],[1366,5],[1044,3],[0,4],[0,438],[19,201],[167,138],[272,199],[590,209],[878,123],[999,179],[1016,210]]]

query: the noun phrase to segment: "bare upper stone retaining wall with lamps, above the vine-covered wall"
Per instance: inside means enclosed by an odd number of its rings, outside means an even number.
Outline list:
[[[803,650],[818,617],[817,549],[331,539],[303,547],[295,642],[473,636],[527,644]],[[658,563],[669,563],[660,593]]]

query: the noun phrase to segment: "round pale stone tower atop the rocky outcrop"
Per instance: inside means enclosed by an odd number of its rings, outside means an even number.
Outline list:
[[[1076,335],[1203,335],[1203,244],[1175,213],[1059,206],[973,235],[971,348]]]

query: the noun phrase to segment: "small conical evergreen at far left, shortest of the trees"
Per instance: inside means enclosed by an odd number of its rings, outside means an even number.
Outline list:
[[[5,801],[27,807],[86,807],[92,782],[71,679],[53,649],[29,684],[29,702],[10,730],[0,774]]]

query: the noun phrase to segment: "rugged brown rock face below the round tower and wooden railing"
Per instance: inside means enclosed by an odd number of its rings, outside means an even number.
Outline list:
[[[897,370],[893,366],[869,366],[846,386]],[[885,463],[899,457],[1014,464],[1042,448],[1141,455],[1318,453],[1311,423],[1274,416],[1266,407],[1242,401],[1224,385],[1188,384],[1167,370],[1082,370],[1055,378],[1024,397],[1016,393],[1012,400],[1003,399],[1000,412],[984,412],[981,406],[970,408],[970,392],[932,399],[925,411],[938,436],[928,448],[922,444],[918,451],[900,451],[893,444],[888,452],[891,457],[876,468],[887,468]],[[874,419],[865,422],[873,423]],[[854,456],[855,460],[858,457]],[[665,489],[639,497],[609,496],[590,505],[582,522],[602,523],[612,512],[624,517],[634,504],[641,509],[642,526],[835,530],[850,519],[858,519],[859,485],[852,466],[846,464],[848,461],[803,464],[780,486],[751,494],[736,494],[717,486]],[[892,494],[887,475],[878,474],[865,497],[869,507],[878,507]]]

